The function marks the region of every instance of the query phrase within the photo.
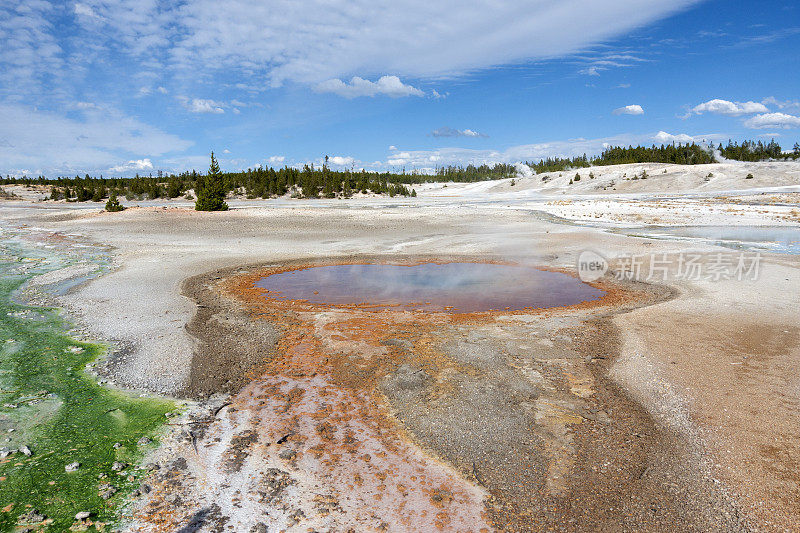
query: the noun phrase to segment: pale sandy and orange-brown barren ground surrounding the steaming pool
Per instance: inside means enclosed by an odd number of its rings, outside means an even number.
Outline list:
[[[642,170],[648,179],[623,178]],[[572,185],[574,171],[513,187],[430,185],[415,199],[232,200],[227,213],[7,200],[0,224],[112,247],[112,271],[60,303],[117,343],[105,371],[114,382],[218,393],[193,404],[154,454],[158,490],[132,527],[380,530],[381,516],[393,531],[800,527],[798,256],[765,253],[756,279],[686,279],[675,271],[681,254],[711,269],[717,254],[735,261],[739,251],[619,231],[796,228],[800,164],[580,173]],[[668,257],[669,275],[649,280],[650,298],[620,282],[630,298],[608,306],[422,329],[399,319],[355,327],[364,317],[327,309],[261,309],[256,320],[235,282],[287,261],[363,254],[574,270],[584,250],[619,258],[617,268],[640,255],[644,272]],[[359,462],[367,449],[380,461]],[[397,501],[415,513],[387,503]]]

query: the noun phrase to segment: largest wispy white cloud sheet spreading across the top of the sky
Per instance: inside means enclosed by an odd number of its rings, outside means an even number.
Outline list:
[[[272,86],[287,81],[313,86],[386,73],[452,76],[560,57],[697,1],[82,0],[82,5],[107,26],[92,38],[133,57],[201,75],[215,68],[235,70],[247,78],[241,83],[267,79]],[[636,60],[617,55],[601,60],[625,65]]]

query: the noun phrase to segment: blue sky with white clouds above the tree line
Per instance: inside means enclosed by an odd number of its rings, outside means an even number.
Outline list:
[[[796,0],[0,0],[0,173],[800,141]]]

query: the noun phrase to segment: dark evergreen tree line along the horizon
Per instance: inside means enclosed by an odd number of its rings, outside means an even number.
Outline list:
[[[743,141],[741,144],[728,141],[714,146],[691,144],[668,144],[650,147],[628,146],[609,147],[597,157],[586,154],[573,158],[550,157],[539,162],[528,161],[526,164],[536,173],[559,172],[567,169],[585,168],[589,166],[619,165],[626,163],[674,163],[681,165],[697,165],[714,163],[714,151],[727,158],[738,161],[763,161],[767,159],[798,159],[800,145],[794,144],[790,153],[783,153],[780,145],[774,140]],[[302,169],[284,167],[258,167],[240,172],[220,172],[218,166],[212,180],[209,174],[203,175],[195,170],[179,174],[164,175],[161,171],[156,176],[140,176],[132,178],[92,177],[58,177],[47,179],[6,176],[0,184],[48,185],[50,198],[74,202],[103,201],[112,194],[128,200],[143,198],[177,198],[186,196],[190,189],[204,190],[203,187],[219,188],[224,196],[231,192],[241,193],[247,198],[274,198],[291,194],[296,198],[336,198],[350,197],[355,193],[386,194],[389,196],[416,196],[411,188],[414,184],[430,182],[476,182],[513,178],[517,175],[514,165],[497,163],[475,166],[447,166],[437,168],[433,174],[397,172],[370,172],[367,170],[332,170],[325,163],[321,167],[305,165]],[[213,169],[212,169],[213,170]],[[209,173],[212,173],[209,171]]]

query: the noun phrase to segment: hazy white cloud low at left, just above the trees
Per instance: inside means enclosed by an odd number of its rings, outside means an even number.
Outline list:
[[[94,172],[120,161],[179,152],[192,143],[110,109],[81,119],[17,104],[0,104],[0,173],[29,169],[48,176]],[[20,124],[26,127],[20,128]],[[5,141],[5,142],[4,142]]]

